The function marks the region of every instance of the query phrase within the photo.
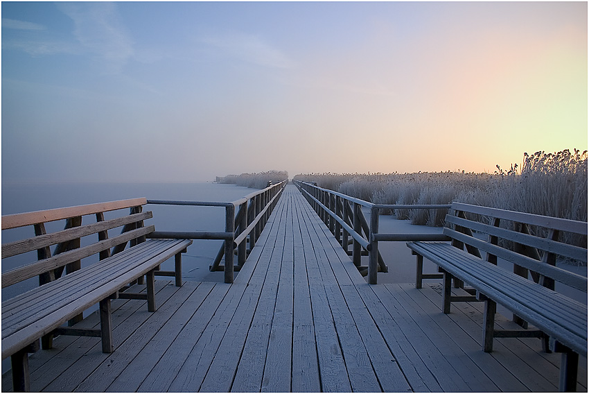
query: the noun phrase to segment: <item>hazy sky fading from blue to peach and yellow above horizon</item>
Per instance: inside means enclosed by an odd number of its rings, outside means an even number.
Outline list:
[[[2,182],[493,172],[587,149],[586,2],[6,2]]]

